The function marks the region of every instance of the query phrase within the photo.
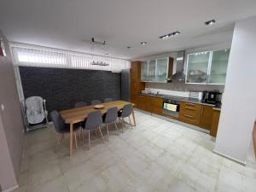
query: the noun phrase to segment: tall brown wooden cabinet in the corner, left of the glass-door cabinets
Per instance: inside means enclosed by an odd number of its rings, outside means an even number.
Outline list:
[[[145,90],[145,83],[141,82],[141,62],[131,62],[130,102],[137,107],[137,94]],[[143,109],[142,109],[143,110]]]

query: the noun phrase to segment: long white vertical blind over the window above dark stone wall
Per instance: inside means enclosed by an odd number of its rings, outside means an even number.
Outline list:
[[[102,55],[92,55],[34,45],[11,44],[14,65],[27,67],[60,67],[120,72],[130,68],[131,62]],[[92,61],[108,66],[91,65]]]

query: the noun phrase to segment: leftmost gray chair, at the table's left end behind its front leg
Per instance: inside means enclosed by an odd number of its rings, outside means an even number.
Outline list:
[[[70,132],[70,125],[64,122],[64,120],[61,118],[60,113],[57,112],[56,110],[52,111],[49,115],[55,125],[55,131],[59,134],[59,137],[57,138],[56,147],[55,147],[55,150],[56,150],[59,148],[61,140],[64,138],[64,134]],[[77,141],[76,131],[78,131],[79,128],[80,128],[79,124],[73,125],[73,135],[75,138],[75,144],[77,149],[78,149],[78,141]]]

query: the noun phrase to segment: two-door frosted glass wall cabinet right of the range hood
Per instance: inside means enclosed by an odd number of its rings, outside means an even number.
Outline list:
[[[224,84],[230,49],[188,55],[187,84]]]

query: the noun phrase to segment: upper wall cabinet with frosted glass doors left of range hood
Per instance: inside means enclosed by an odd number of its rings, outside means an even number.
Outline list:
[[[141,81],[166,83],[168,78],[169,63],[172,58],[158,58],[142,62]]]

